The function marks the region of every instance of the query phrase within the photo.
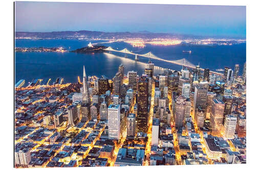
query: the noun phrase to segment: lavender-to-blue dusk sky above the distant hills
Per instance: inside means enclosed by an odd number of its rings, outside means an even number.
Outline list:
[[[16,31],[246,36],[245,6],[16,2]]]

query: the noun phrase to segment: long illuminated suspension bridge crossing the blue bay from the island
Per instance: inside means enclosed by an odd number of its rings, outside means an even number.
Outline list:
[[[128,50],[127,48],[124,48],[123,50],[118,51],[118,50],[114,50],[111,46],[109,46],[108,48],[105,48],[103,50],[109,51],[109,52],[124,53],[124,57],[126,57],[126,54],[135,55],[135,60],[136,61],[138,61],[138,56],[141,56],[141,57],[152,58],[152,59],[155,59],[155,60],[160,60],[160,61],[164,61],[164,62],[169,62],[169,63],[181,65],[181,66],[188,67],[188,68],[196,68],[196,65],[194,65],[193,63],[190,63],[185,58],[180,59],[180,60],[165,60],[165,59],[157,57],[156,55],[154,55],[151,52],[148,52],[146,54],[136,54],[136,53],[133,53],[132,51]],[[200,68],[200,69],[204,71],[203,68]],[[216,74],[216,75],[223,75],[220,72],[215,72],[215,71],[210,71],[210,72],[212,74]]]

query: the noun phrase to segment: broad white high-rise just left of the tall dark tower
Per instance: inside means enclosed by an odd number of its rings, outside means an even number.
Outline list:
[[[111,104],[108,108],[109,139],[120,139],[120,105]]]

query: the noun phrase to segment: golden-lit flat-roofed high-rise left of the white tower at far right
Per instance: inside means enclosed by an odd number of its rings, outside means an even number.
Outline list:
[[[214,99],[212,103],[212,111],[210,114],[210,128],[214,134],[219,134],[219,130],[222,126],[222,120],[224,115],[225,103],[220,100]]]

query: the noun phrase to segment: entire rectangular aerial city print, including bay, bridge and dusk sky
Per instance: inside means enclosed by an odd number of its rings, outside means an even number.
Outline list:
[[[15,6],[15,168],[247,163],[244,6]]]

